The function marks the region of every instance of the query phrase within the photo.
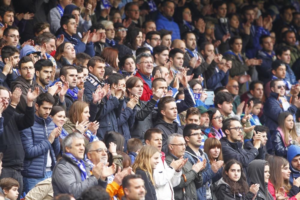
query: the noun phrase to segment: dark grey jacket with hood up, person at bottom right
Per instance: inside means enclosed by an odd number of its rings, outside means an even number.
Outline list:
[[[248,173],[250,184],[259,184],[256,200],[273,200],[273,196],[268,191],[268,183],[265,183],[265,160],[253,160],[249,164]]]

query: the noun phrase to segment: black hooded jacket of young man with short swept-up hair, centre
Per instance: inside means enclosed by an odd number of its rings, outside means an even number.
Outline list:
[[[162,118],[158,118],[154,128],[158,128],[163,132],[163,145],[161,147],[161,151],[165,153],[169,151],[167,147],[168,136],[173,133],[178,133],[180,135],[183,134],[183,128],[177,122],[173,121],[172,124],[169,124],[165,122]]]

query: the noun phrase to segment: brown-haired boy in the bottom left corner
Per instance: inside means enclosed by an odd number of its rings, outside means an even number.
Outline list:
[[[19,183],[13,178],[2,178],[0,180],[0,187],[3,190],[4,197],[10,200],[18,199]]]

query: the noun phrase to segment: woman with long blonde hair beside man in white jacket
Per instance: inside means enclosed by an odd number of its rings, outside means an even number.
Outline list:
[[[156,168],[160,159],[161,157],[157,148],[147,145],[143,146],[140,150],[132,166],[132,171],[135,174],[141,175],[145,182],[145,188],[147,191],[145,199],[147,200],[157,200],[155,183],[153,180],[153,170]]]

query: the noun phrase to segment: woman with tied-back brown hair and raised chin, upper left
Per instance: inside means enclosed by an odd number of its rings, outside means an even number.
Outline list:
[[[70,42],[63,42],[59,45],[56,49],[54,55],[57,68],[61,68],[65,65],[73,65],[75,62],[76,54],[75,49],[72,43]]]

